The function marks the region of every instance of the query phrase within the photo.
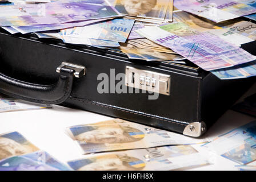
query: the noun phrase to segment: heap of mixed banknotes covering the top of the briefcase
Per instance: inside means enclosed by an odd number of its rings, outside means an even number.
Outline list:
[[[256,3],[227,0],[0,0],[11,34],[125,53],[130,59],[186,64],[221,79],[256,75]],[[244,18],[244,17],[246,18]]]

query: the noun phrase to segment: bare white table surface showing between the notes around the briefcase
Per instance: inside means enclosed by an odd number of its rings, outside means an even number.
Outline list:
[[[241,97],[250,96],[256,92],[256,84]],[[13,111],[0,113],[0,134],[9,131],[18,131],[31,143],[41,150],[49,152],[54,158],[66,163],[68,160],[82,158],[83,155],[75,142],[65,133],[69,126],[105,121],[111,119],[105,115],[91,113],[89,111],[70,109],[54,105],[53,109]],[[254,121],[256,118],[241,114],[233,110],[227,110],[217,122],[207,131],[203,137],[213,139],[220,134]],[[239,164],[229,159],[206,151],[200,145],[194,145],[203,155],[209,156],[210,166],[193,168],[192,170],[237,170]],[[256,165],[256,162],[251,163]]]

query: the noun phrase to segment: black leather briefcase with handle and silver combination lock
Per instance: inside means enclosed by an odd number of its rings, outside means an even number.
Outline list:
[[[1,28],[0,28],[1,29]],[[244,45],[255,50],[255,42]],[[255,54],[255,52],[251,52]],[[255,81],[0,30],[0,92],[199,137]],[[126,90],[126,91],[125,91]]]

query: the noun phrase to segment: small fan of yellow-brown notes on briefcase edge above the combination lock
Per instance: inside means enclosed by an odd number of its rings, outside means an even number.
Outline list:
[[[121,44],[120,49],[130,59],[143,59],[147,61],[177,61],[185,59],[176,54],[158,52],[155,49],[149,48],[138,48],[127,43]]]

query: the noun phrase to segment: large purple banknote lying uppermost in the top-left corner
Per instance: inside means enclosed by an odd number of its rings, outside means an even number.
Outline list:
[[[61,24],[79,20],[113,18],[120,16],[107,1],[95,3],[57,1],[0,7],[0,26],[33,26]]]

